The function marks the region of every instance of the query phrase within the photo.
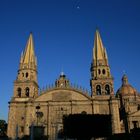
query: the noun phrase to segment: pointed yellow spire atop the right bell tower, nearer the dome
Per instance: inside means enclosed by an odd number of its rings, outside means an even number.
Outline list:
[[[94,65],[98,65],[98,61],[102,61],[103,65],[108,65],[108,57],[106,49],[103,46],[102,39],[98,30],[95,32],[94,48],[93,48]]]

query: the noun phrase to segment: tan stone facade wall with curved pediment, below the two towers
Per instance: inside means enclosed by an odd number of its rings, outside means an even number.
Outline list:
[[[37,106],[40,106],[40,109],[37,110]],[[43,116],[37,119],[36,112],[43,112]],[[33,124],[44,126],[45,135],[49,135],[50,140],[54,140],[56,133],[63,128],[63,115],[81,114],[82,112],[112,114],[113,133],[120,132],[118,100],[111,101],[109,97],[93,99],[85,93],[59,89],[46,92],[32,101],[22,101],[22,103],[12,101],[9,110],[8,136],[15,138],[17,125],[19,137],[29,135],[29,127]]]

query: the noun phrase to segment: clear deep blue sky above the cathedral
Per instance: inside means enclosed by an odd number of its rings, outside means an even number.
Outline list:
[[[94,33],[107,49],[115,91],[123,71],[140,91],[139,0],[0,0],[0,119],[8,118],[20,54],[33,32],[38,83],[54,83],[61,70],[90,90]]]

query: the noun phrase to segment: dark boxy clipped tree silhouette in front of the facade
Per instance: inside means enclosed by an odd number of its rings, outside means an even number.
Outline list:
[[[71,114],[64,116],[63,125],[67,138],[90,140],[112,134],[110,115]]]

